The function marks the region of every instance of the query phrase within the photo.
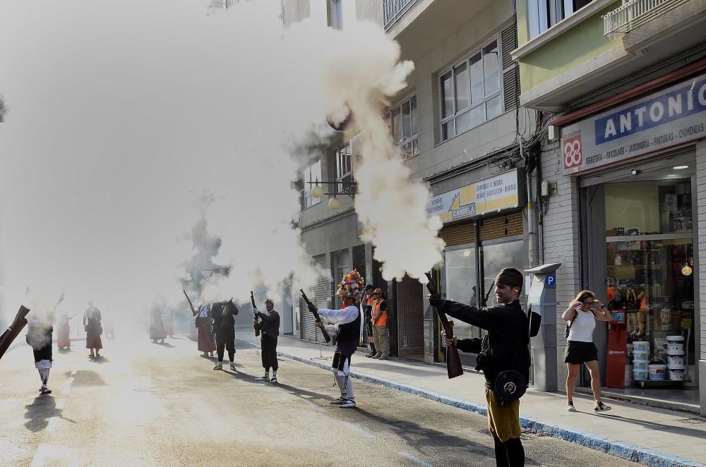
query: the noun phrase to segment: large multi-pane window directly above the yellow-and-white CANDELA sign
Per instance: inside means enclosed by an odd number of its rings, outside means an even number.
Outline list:
[[[441,74],[441,140],[460,135],[502,113],[500,54],[493,40]]]

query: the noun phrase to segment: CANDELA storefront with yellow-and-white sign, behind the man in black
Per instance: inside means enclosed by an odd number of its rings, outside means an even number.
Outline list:
[[[432,198],[429,214],[444,223],[439,232],[446,246],[439,270],[442,296],[470,305],[482,305],[493,279],[503,267],[527,267],[527,241],[521,206],[524,204],[522,169],[487,178]],[[498,213],[499,212],[499,213]],[[523,294],[522,300],[526,300]],[[488,304],[495,303],[490,294]],[[427,360],[443,361],[441,329],[427,313],[425,349]],[[481,330],[455,320],[459,339],[481,336]],[[462,354],[465,365],[475,356]]]

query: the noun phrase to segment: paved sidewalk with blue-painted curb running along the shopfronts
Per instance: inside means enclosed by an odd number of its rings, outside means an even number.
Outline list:
[[[255,336],[243,336],[239,333],[239,340],[259,346]],[[280,336],[277,353],[328,370],[333,348]],[[311,360],[320,353],[328,358]],[[443,367],[409,360],[371,360],[360,352],[351,366],[352,376],[359,380],[486,414],[485,380],[478,373],[465,372],[449,380]],[[650,466],[706,466],[705,418],[619,401],[610,401],[613,410],[596,414],[592,398],[580,394],[575,394],[574,404],[578,412],[567,412],[563,394],[530,388],[522,397],[520,423],[537,435],[566,439]]]

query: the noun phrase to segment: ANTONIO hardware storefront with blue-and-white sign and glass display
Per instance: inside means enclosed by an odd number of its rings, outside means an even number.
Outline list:
[[[608,392],[698,407],[705,124],[700,76],[561,129],[564,175],[579,190],[581,283],[614,317],[594,336]]]

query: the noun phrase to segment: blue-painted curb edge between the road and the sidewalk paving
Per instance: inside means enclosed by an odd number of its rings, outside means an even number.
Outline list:
[[[253,344],[249,341],[244,342],[251,344],[257,348],[260,348],[258,344]],[[290,360],[296,360],[306,365],[322,368],[323,370],[330,370],[331,368],[330,365],[327,365],[325,363],[309,360],[308,358],[295,356],[290,353],[277,351],[277,355],[289,358]],[[389,387],[390,389],[396,389],[397,391],[407,392],[407,394],[414,394],[415,396],[424,397],[424,399],[429,399],[431,401],[441,402],[441,404],[461,408],[465,411],[479,413],[482,416],[487,416],[488,414],[488,410],[484,404],[474,404],[469,401],[462,401],[461,399],[443,396],[441,394],[437,394],[426,389],[410,386],[409,384],[400,384],[389,380],[383,380],[382,378],[364,375],[363,373],[351,372],[350,374],[357,380],[373,384],[381,384],[382,386]],[[706,467],[706,464],[702,464],[700,462],[690,461],[688,459],[683,459],[678,456],[672,456],[671,454],[666,454],[664,452],[654,451],[652,449],[640,447],[635,444],[618,441],[617,439],[611,439],[603,435],[597,435],[596,433],[577,430],[575,428],[566,427],[563,425],[556,425],[554,423],[544,422],[533,417],[520,417],[520,426],[525,429],[525,431],[530,432],[534,435],[550,436],[558,439],[563,439],[564,441],[580,444],[582,446],[589,447],[597,451],[602,451],[606,454],[610,454],[611,456],[620,457],[628,461],[642,463],[647,466]]]

